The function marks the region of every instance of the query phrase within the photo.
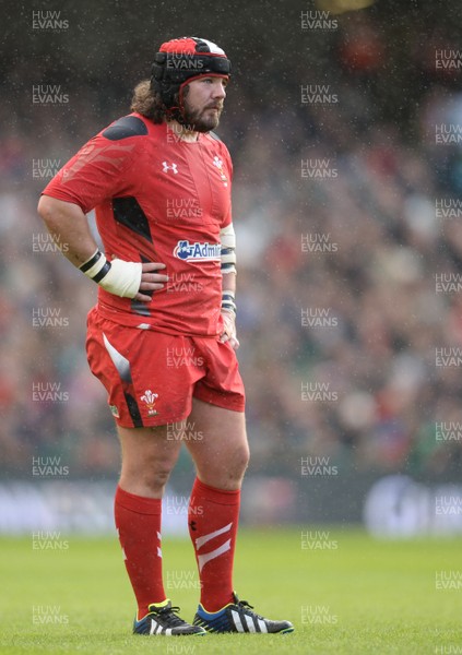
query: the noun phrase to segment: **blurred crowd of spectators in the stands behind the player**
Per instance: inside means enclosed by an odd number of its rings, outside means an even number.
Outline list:
[[[303,75],[292,85],[270,75],[264,106],[261,80],[257,91],[237,82],[218,129],[235,166],[250,471],[299,476],[310,457],[342,471],[452,475],[462,463],[462,147],[437,143],[435,131],[462,126],[462,94],[434,74],[428,46],[418,102],[402,121],[383,115],[378,88],[393,91],[393,80],[380,79],[380,31],[340,31],[324,68],[337,102],[303,102]],[[0,451],[10,474],[29,474],[33,457],[60,457],[74,475],[118,467],[106,393],[84,355],[96,289],[54,252],[35,213],[51,159],[62,166],[125,112],[105,94],[83,85],[69,108],[34,108],[33,129],[17,126],[0,151]]]

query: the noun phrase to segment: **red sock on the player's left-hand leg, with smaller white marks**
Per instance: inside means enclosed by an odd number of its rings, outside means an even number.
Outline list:
[[[117,487],[114,513],[141,619],[151,603],[166,598],[162,581],[162,500],[134,496]]]

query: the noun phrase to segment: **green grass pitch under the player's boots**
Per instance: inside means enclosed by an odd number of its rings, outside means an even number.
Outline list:
[[[462,588],[435,585],[437,571],[462,571],[460,540],[377,541],[331,531],[332,540],[336,549],[310,550],[300,548],[299,528],[240,533],[236,590],[264,616],[292,620],[294,633],[162,639],[131,635],[134,603],[115,538],[71,536],[62,551],[0,539],[0,652],[462,653]],[[163,550],[164,571],[175,576],[169,584],[180,587],[168,594],[191,620],[198,599],[192,548],[166,537]],[[38,606],[47,621],[54,607],[58,622],[34,623]]]

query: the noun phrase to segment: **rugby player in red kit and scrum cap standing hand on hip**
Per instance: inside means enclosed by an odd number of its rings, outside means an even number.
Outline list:
[[[86,350],[121,444],[115,520],[139,634],[293,630],[253,612],[233,587],[249,449],[235,354],[233,166],[213,132],[229,72],[206,39],[163,44],[132,112],[91,139],[38,205],[63,254],[99,285]],[[104,252],[86,221],[93,209]],[[191,427],[201,439],[188,438]],[[162,576],[162,496],[182,442],[197,472],[188,525],[201,597],[192,623]]]

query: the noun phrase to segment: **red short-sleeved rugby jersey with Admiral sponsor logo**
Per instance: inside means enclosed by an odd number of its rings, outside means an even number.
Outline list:
[[[169,279],[151,302],[99,287],[103,317],[173,334],[220,333],[220,230],[232,222],[232,175],[214,134],[186,142],[140,114],[111,123],[63,166],[44,194],[85,214],[95,209],[109,260],[166,264],[159,273]]]

